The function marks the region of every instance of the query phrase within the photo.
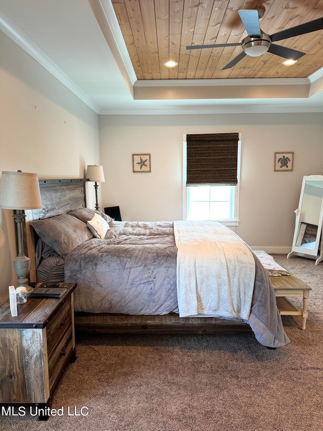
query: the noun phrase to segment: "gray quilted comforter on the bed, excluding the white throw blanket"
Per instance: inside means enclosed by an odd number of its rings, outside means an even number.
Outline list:
[[[75,311],[158,315],[178,312],[177,248],[172,222],[112,222],[65,258],[65,281],[76,282]],[[254,255],[256,275],[248,321],[268,347],[289,343],[270,279]],[[219,316],[221,317],[221,316]]]

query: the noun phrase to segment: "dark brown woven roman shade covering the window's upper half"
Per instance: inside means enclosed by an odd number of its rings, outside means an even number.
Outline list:
[[[186,186],[236,185],[239,133],[187,135]]]

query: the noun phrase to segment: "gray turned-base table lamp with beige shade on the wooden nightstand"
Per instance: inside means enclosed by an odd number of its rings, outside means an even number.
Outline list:
[[[24,253],[23,222],[25,214],[22,210],[42,208],[38,175],[27,172],[3,171],[0,180],[0,208],[16,210],[14,219],[17,223],[18,256],[13,261],[18,276],[18,286],[25,286],[28,291],[30,259]]]

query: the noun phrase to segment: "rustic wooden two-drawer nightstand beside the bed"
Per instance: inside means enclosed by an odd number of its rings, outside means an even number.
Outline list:
[[[48,418],[41,409],[50,408],[64,369],[75,360],[76,283],[60,287],[67,288],[61,298],[29,298],[16,317],[9,300],[0,304],[0,405],[37,405],[40,420]]]

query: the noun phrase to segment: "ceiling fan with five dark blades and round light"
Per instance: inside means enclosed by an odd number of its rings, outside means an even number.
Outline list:
[[[298,60],[305,53],[292,50],[286,46],[277,45],[273,42],[278,40],[288,39],[290,37],[299,36],[301,34],[311,33],[312,31],[323,29],[323,18],[297,25],[296,27],[288,28],[287,30],[279,31],[274,34],[263,33],[260,29],[259,20],[263,17],[264,9],[256,10],[240,10],[238,11],[241,21],[245,26],[248,36],[238,43],[216,43],[212,45],[191,45],[186,46],[187,50],[199,50],[204,48],[219,48],[225,46],[242,46],[242,53],[231,60],[222,70],[230,69],[235,66],[245,56],[259,57],[265,52],[275,54],[279,57],[284,57],[288,60]]]

